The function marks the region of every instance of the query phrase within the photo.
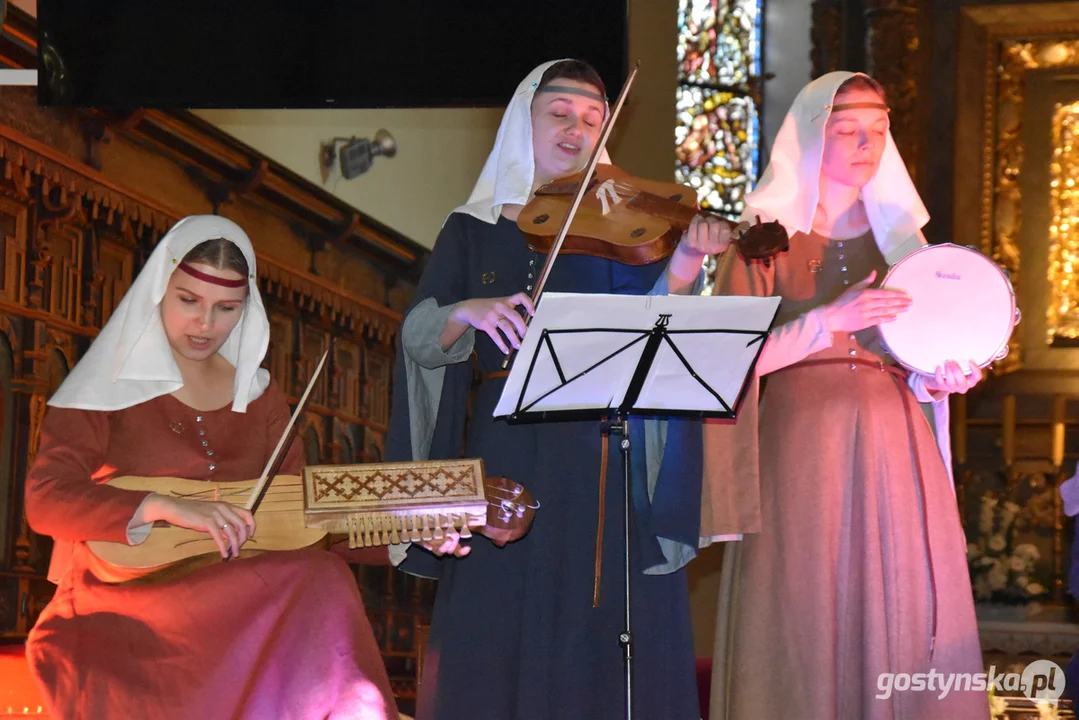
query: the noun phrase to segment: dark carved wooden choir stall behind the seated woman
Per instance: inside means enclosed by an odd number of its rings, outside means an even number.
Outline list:
[[[32,18],[10,8],[4,64],[35,67],[35,38]],[[3,87],[0,642],[25,638],[53,589],[51,542],[26,526],[22,500],[45,402],[158,240],[199,213],[235,220],[255,244],[267,367],[293,404],[329,351],[296,440],[308,462],[381,460],[395,336],[425,248],[190,113],[45,110],[33,89]],[[355,571],[407,710],[433,585],[387,567]]]

